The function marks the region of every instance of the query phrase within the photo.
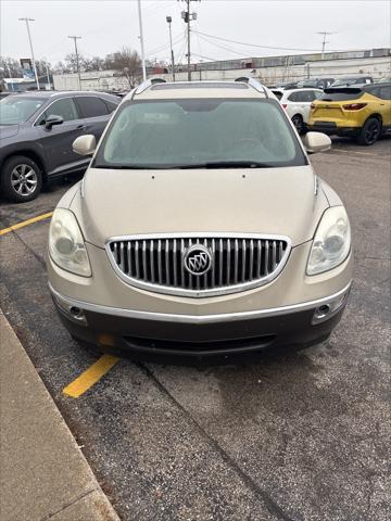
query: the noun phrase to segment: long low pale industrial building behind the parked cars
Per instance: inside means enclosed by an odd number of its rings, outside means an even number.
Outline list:
[[[148,67],[150,78],[172,80],[172,71],[163,67]],[[243,58],[201,62],[191,65],[192,79],[235,79],[253,76],[265,85],[278,81],[299,80],[310,77],[333,77],[368,75],[374,79],[391,75],[391,49],[368,49],[349,52],[325,52],[282,56]],[[187,80],[187,65],[175,67],[176,80]],[[78,90],[77,74],[54,75],[55,90]],[[129,89],[126,77],[115,71],[81,73],[83,90]]]

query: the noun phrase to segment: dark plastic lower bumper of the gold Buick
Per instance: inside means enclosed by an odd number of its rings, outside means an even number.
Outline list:
[[[207,359],[239,361],[243,357],[281,347],[303,348],[326,340],[339,322],[345,300],[320,323],[313,323],[316,307],[277,316],[207,323],[173,322],[83,312],[73,319],[54,304],[70,333],[108,353],[134,359],[189,363]]]

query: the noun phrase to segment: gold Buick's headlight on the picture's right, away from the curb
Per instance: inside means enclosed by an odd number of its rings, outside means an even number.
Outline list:
[[[351,229],[343,206],[328,208],[316,230],[307,275],[321,274],[343,263],[351,249]]]

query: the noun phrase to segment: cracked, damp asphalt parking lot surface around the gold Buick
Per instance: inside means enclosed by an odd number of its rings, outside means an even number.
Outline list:
[[[0,306],[123,520],[390,519],[391,140],[336,139],[312,163],[348,207],[355,276],[330,341],[299,354],[199,368],[123,359],[70,397],[98,355],[54,313],[49,220],[0,238]],[[51,212],[75,180],[23,205],[0,200],[0,229]]]

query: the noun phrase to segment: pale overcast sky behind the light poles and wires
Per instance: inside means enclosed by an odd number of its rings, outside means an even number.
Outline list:
[[[184,60],[185,24],[180,12],[185,2],[177,0],[141,0],[147,58],[168,59],[166,15],[173,16],[176,60]],[[321,49],[321,36],[328,30],[326,50],[370,49],[391,46],[390,1],[266,1],[201,0],[191,2],[198,14],[192,35],[192,52],[202,60],[227,60],[244,56],[297,53],[295,49]],[[80,53],[104,56],[124,46],[140,49],[136,0],[1,0],[0,54],[29,58],[28,16],[36,59],[55,63],[73,52],[67,36],[81,36]],[[205,36],[209,35],[209,36]],[[211,38],[217,36],[236,42]],[[248,47],[289,48],[292,51]],[[195,60],[194,60],[195,61]]]

